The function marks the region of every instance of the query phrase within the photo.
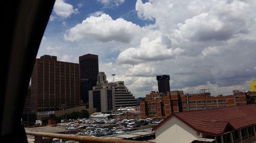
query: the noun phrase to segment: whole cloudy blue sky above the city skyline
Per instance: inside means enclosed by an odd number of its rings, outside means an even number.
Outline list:
[[[37,58],[79,63],[99,56],[107,80],[135,97],[170,89],[211,95],[249,91],[256,79],[256,1],[56,0]]]

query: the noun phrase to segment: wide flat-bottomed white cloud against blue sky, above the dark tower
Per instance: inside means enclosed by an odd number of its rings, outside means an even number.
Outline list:
[[[140,26],[122,18],[113,20],[109,15],[91,16],[68,30],[65,39],[71,42],[93,38],[101,42],[129,43],[139,33]]]

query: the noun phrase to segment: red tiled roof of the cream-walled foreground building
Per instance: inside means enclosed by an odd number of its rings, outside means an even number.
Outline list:
[[[173,113],[153,130],[173,116],[197,131],[218,135],[224,133],[228,126],[232,129],[240,129],[255,125],[256,104]]]

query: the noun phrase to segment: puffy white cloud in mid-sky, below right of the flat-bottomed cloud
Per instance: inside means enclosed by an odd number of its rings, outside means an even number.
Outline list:
[[[172,48],[167,36],[160,36],[152,41],[143,38],[139,47],[131,47],[122,51],[117,58],[118,63],[137,64],[148,61],[162,61],[173,59],[182,53],[184,49]]]

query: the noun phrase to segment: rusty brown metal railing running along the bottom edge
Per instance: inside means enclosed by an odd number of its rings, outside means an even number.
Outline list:
[[[58,134],[58,133],[46,133],[46,132],[33,132],[26,131],[27,135],[35,136],[35,143],[43,142],[42,137],[59,138],[67,140],[75,140],[84,143],[142,143],[144,141],[137,140],[125,140],[119,138],[104,138],[104,137],[92,137],[92,136],[81,136],[81,135],[70,135],[70,134]]]

